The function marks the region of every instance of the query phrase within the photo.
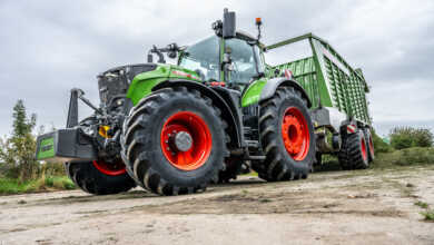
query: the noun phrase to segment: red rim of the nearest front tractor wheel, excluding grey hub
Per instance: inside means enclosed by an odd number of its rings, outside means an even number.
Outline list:
[[[174,143],[179,134],[188,135],[190,147],[179,149]],[[174,167],[195,170],[208,159],[213,148],[211,133],[203,118],[190,111],[179,111],[169,117],[162,126],[161,151]]]

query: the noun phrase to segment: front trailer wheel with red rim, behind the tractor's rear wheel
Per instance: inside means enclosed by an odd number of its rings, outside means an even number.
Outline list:
[[[347,135],[338,158],[343,169],[365,169],[369,166],[365,134],[362,129]]]

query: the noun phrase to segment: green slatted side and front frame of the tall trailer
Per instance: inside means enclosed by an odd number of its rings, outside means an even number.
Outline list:
[[[353,69],[344,58],[325,40],[308,33],[288,39],[267,49],[275,49],[308,39],[312,57],[278,65],[266,66],[266,76],[274,77],[278,69],[289,69],[297,82],[308,94],[313,108],[319,106],[335,107],[341,112],[359,121],[371,125],[366,92],[369,88],[361,69]]]

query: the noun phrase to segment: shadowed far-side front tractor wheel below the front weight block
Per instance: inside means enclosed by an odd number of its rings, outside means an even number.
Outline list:
[[[121,161],[117,165],[109,165],[102,160],[75,161],[66,163],[65,168],[69,178],[89,194],[117,194],[136,187]]]

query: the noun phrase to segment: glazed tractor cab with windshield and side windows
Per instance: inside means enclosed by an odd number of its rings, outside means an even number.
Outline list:
[[[244,87],[262,77],[265,67],[256,39],[240,31],[235,38],[211,36],[189,46],[178,66],[196,71],[205,82],[224,81],[228,87]]]

